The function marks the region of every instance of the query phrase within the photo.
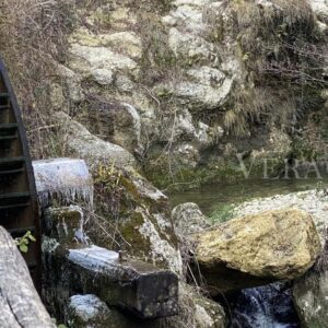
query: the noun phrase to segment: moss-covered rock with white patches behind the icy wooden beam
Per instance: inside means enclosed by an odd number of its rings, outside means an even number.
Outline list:
[[[95,196],[97,211],[108,226],[107,235],[91,226],[96,244],[181,273],[166,196],[136,172],[114,166],[95,172]]]

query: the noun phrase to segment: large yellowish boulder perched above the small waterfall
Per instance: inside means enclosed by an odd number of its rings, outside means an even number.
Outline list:
[[[301,277],[321,250],[312,216],[292,208],[231,220],[197,241],[196,258],[213,294]]]

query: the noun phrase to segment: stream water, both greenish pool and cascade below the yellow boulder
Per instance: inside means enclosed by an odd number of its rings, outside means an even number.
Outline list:
[[[198,189],[171,195],[172,207],[196,202],[207,215],[223,207],[238,204],[258,197],[290,194],[328,186],[328,175],[323,179],[243,179],[233,184],[212,184]],[[229,301],[231,328],[296,328],[301,327],[293,307],[290,290],[282,284],[271,284],[243,290]]]

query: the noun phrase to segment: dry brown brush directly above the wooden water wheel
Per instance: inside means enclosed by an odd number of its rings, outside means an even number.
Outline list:
[[[55,62],[66,59],[73,2],[1,0],[0,54],[23,109],[33,157],[60,150],[50,131],[50,83]]]

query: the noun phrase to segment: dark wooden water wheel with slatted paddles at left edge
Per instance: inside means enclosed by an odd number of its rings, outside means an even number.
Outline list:
[[[7,69],[0,59],[0,225],[16,238],[36,238],[24,254],[40,290],[40,230],[37,195],[26,132]]]

